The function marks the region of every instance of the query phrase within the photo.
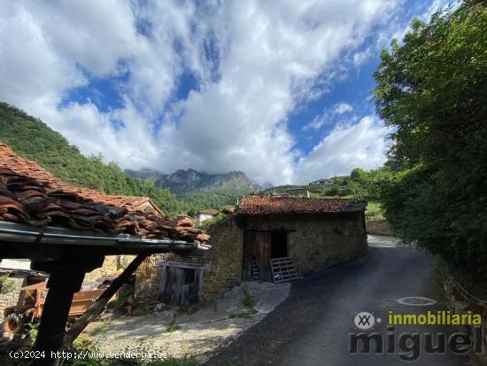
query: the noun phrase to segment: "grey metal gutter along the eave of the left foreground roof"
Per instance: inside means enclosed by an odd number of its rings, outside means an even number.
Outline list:
[[[35,228],[16,222],[0,222],[0,241],[47,245],[102,245],[139,249],[191,249],[197,247],[197,242],[187,242],[170,238],[148,239],[129,234],[99,234],[96,232],[70,230],[52,226]]]

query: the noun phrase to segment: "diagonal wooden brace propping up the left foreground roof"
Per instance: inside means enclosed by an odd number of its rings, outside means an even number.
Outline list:
[[[73,323],[71,328],[66,331],[64,339],[64,347],[70,347],[73,344],[81,331],[88,326],[98,315],[102,313],[107,302],[112,299],[112,296],[119,291],[122,284],[127,283],[128,279],[135,272],[141,263],[148,257],[149,254],[143,253],[135,257],[134,261],[131,261],[127,269],[125,269],[120,276],[115,278],[110,286],[100,295],[100,297],[89,307],[89,309],[81,315],[81,317]]]

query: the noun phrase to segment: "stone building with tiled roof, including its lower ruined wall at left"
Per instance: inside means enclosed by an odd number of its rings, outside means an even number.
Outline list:
[[[245,197],[235,214],[208,228],[207,250],[185,257],[166,254],[145,263],[137,277],[137,296],[160,299],[161,288],[167,292],[162,271],[171,267],[184,276],[174,284],[174,293],[197,285],[198,300],[213,300],[242,281],[276,282],[272,262],[282,258],[300,276],[352,260],[367,252],[365,207],[355,199]],[[185,272],[191,268],[205,269],[197,284],[194,273]]]

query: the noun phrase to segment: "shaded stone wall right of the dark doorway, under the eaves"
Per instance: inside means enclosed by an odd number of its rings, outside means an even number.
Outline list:
[[[288,255],[300,275],[367,253],[363,213],[256,217],[247,219],[244,226],[248,230],[288,231]]]

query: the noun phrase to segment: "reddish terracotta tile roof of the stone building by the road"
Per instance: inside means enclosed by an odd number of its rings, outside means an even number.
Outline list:
[[[340,214],[365,209],[356,199],[301,199],[295,197],[247,196],[240,200],[238,214]]]

